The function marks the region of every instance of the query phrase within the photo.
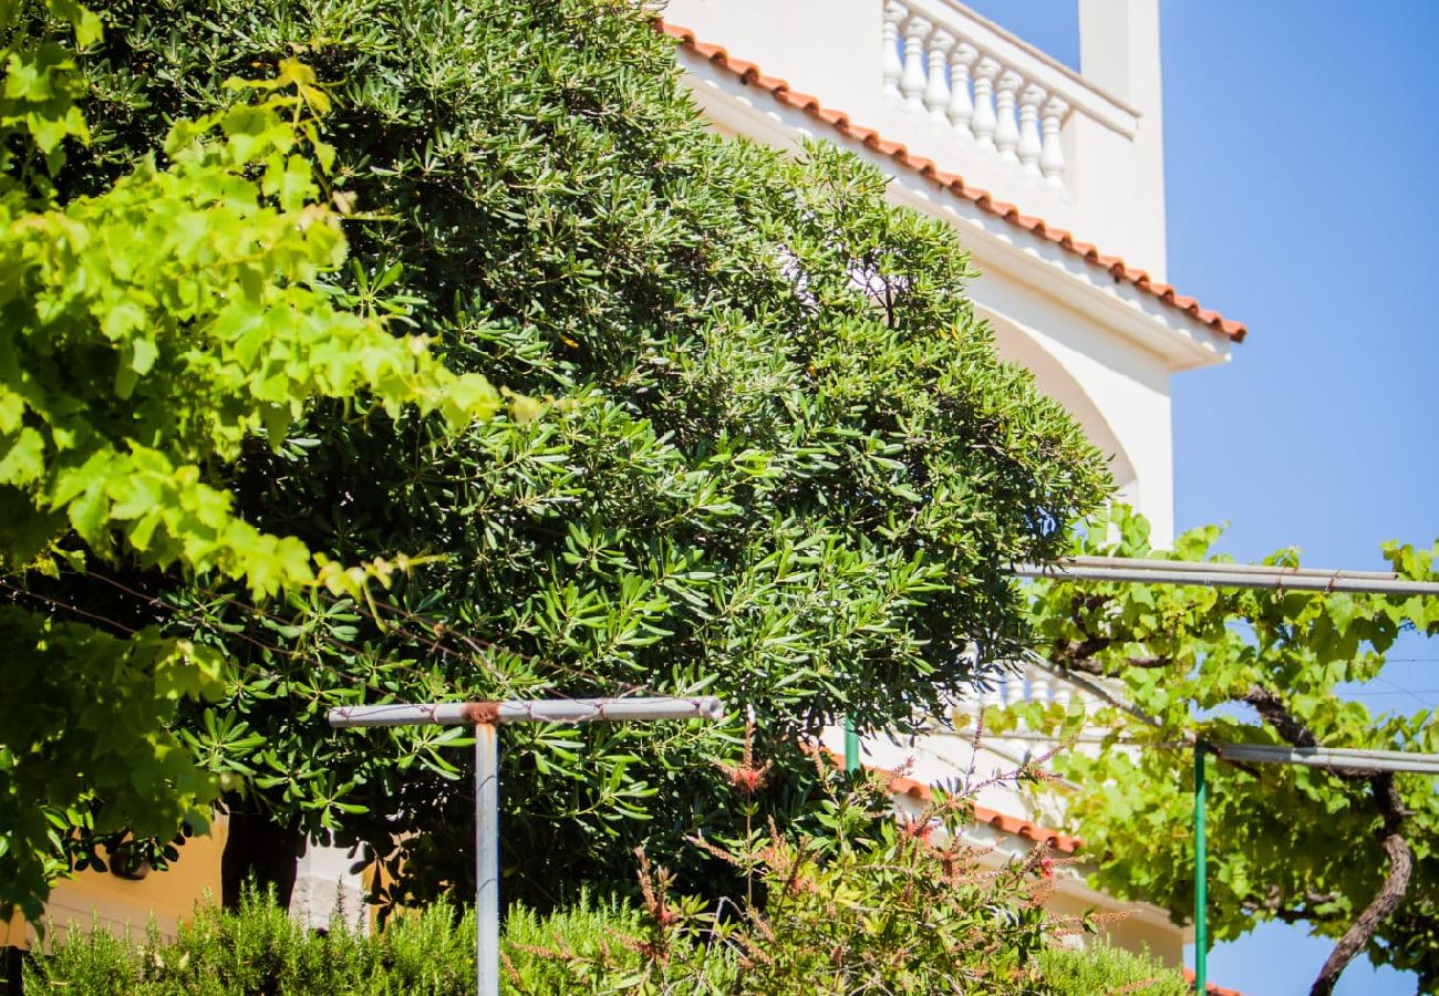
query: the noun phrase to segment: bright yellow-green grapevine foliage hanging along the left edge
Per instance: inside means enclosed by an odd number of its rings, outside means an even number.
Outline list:
[[[69,842],[206,825],[217,780],[170,723],[235,679],[220,648],[50,581],[124,566],[255,599],[355,594],[389,564],[341,566],[235,507],[248,440],[281,446],[317,397],[452,429],[498,397],[317,286],[345,243],[309,69],[227,83],[227,109],[65,196],[55,177],[88,128],[60,39],[95,49],[101,24],[66,0],[29,13],[55,23],[0,3],[0,900],[33,918]]]

